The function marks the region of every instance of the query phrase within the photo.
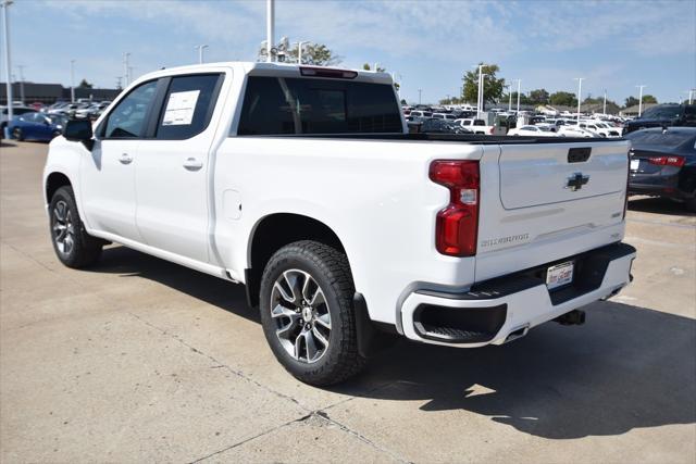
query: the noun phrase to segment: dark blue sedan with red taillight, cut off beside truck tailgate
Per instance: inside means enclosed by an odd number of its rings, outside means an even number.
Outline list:
[[[666,197],[696,212],[696,127],[635,130],[629,193]]]

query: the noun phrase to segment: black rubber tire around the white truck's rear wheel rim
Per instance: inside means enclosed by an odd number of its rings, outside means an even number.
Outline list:
[[[323,311],[330,315],[331,330],[326,338],[327,346],[325,346],[323,352],[322,350],[318,351],[322,354],[313,362],[309,362],[307,339],[304,339],[307,360],[303,361],[301,360],[301,354],[299,359],[290,354],[287,349],[284,348],[279,336],[276,335],[278,321],[282,318],[274,318],[271,314],[273,310],[272,306],[275,306],[272,298],[277,296],[277,291],[274,293],[276,281],[284,278],[284,276],[287,275],[284,273],[287,272],[301,272],[311,276],[325,300]],[[299,284],[296,289],[299,290]],[[307,291],[309,292],[310,290]],[[346,255],[320,242],[303,240],[287,244],[281,248],[266,264],[261,279],[259,304],[263,333],[271,346],[273,354],[275,354],[281,364],[297,379],[313,386],[324,387],[348,379],[359,373],[364,366],[365,359],[358,352],[356,316],[352,308],[355,291],[355,285]],[[291,290],[291,292],[293,296],[295,296],[295,291]],[[302,287],[301,293],[303,298],[304,287]],[[297,321],[299,324],[299,327],[296,328],[300,331],[304,331],[306,329],[313,331],[314,328],[322,328],[319,325],[313,326],[318,321],[312,318],[308,322],[308,319],[299,317],[299,315],[303,313],[297,309],[295,309],[295,311],[298,313]],[[289,327],[294,324],[293,321],[295,319],[288,317],[286,321],[289,321],[287,325],[287,327]],[[311,330],[309,330],[310,324],[312,324]],[[316,340],[321,339],[318,338]],[[297,347],[297,341],[295,346]],[[295,353],[297,353],[297,348],[295,348]]]

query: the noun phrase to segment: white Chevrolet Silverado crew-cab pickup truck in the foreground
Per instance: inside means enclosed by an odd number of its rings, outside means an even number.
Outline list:
[[[119,242],[245,284],[278,361],[330,385],[388,333],[470,348],[582,323],[631,280],[627,152],[408,134],[387,74],[219,63],[69,122],[44,192],[62,263]]]

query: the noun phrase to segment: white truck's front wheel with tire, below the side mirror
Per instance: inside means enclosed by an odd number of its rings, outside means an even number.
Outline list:
[[[80,268],[99,260],[103,241],[85,231],[72,187],[63,186],[53,193],[49,205],[49,224],[53,250],[61,263]]]

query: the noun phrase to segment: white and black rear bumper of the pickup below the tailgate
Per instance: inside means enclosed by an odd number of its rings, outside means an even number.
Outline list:
[[[464,292],[414,290],[403,301],[403,334],[464,348],[502,344],[530,328],[618,293],[631,281],[635,248],[614,243],[474,285]],[[574,261],[573,281],[546,288],[546,269]]]

